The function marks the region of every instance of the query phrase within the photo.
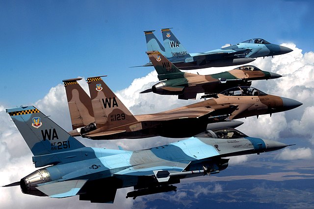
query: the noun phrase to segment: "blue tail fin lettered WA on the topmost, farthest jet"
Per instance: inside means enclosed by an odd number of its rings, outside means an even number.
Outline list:
[[[182,59],[191,57],[185,47],[171,32],[170,28],[161,29],[163,46],[165,47],[165,54],[167,58]]]

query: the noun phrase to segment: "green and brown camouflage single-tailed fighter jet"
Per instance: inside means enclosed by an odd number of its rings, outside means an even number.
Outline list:
[[[146,52],[158,73],[159,83],[141,93],[178,95],[179,99],[195,99],[197,93],[219,93],[235,86],[251,86],[252,80],[282,77],[262,71],[255,66],[242,66],[211,75],[199,75],[180,71],[158,51]]]

